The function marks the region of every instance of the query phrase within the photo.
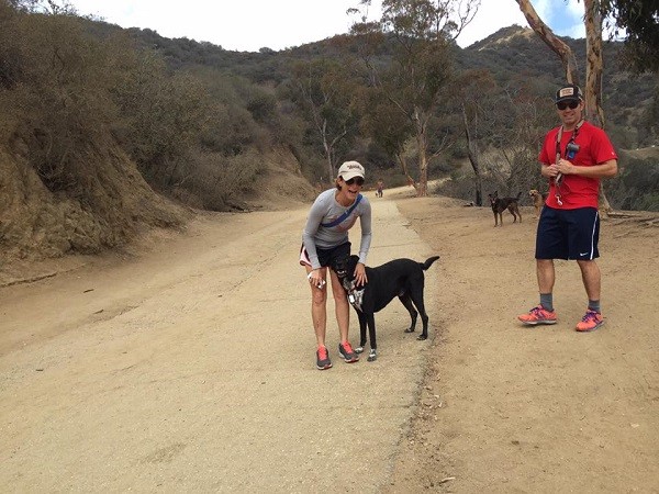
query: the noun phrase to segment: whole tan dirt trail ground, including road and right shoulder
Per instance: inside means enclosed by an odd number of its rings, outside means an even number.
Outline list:
[[[494,228],[488,209],[369,194],[371,266],[442,256],[431,340],[393,301],[376,362],[339,361],[330,310],[334,368],[315,369],[308,206],[202,216],[142,255],[1,288],[2,492],[659,492],[659,228],[603,224],[601,330],[572,330],[585,295],[567,262],[559,324],[528,329],[529,207]]]

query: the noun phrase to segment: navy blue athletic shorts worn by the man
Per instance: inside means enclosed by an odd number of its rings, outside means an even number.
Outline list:
[[[557,210],[545,205],[538,222],[536,259],[593,260],[600,257],[595,207]]]

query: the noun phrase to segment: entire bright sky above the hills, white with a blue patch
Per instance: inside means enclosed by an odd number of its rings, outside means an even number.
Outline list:
[[[346,11],[359,0],[68,0],[81,15],[160,36],[210,42],[224,49],[277,52],[347,33],[355,18]],[[584,37],[583,2],[532,0],[540,19],[559,36]],[[370,16],[377,18],[375,0]],[[457,38],[467,47],[501,27],[527,26],[515,0],[481,0],[473,21]]]

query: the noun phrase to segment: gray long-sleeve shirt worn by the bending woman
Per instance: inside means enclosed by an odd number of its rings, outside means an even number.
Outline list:
[[[336,189],[330,189],[319,194],[311,206],[309,217],[306,218],[306,225],[304,225],[304,229],[302,231],[302,242],[304,243],[304,248],[309,254],[309,259],[311,260],[311,267],[313,269],[321,268],[316,247],[320,247],[321,249],[331,249],[348,242],[348,229],[355,225],[357,218],[359,218],[359,225],[361,227],[359,262],[366,265],[366,258],[371,242],[370,203],[366,197],[362,197],[359,204],[357,204],[348,217],[338,225],[330,227],[322,226],[321,223],[331,223],[353,205],[340,205],[336,202],[335,193]]]

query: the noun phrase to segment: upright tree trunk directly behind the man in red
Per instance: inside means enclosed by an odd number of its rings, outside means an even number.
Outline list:
[[[602,110],[602,15],[596,0],[584,0],[585,9],[585,117],[594,125],[604,128],[604,110]],[[608,217],[612,207],[600,182],[600,216]]]

